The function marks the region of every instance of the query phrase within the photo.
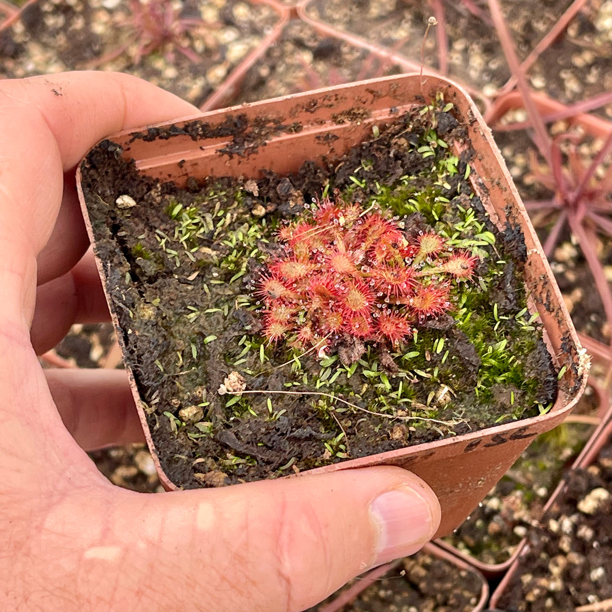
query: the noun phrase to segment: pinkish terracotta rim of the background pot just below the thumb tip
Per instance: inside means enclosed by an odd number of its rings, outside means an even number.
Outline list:
[[[489,596],[489,586],[487,580],[485,580],[485,577],[479,572],[479,570],[475,569],[462,559],[458,559],[453,554],[448,553],[446,550],[442,550],[442,548],[436,546],[435,544],[426,544],[422,551],[426,554],[430,554],[433,557],[442,559],[442,561],[447,561],[449,564],[455,565],[455,567],[460,570],[466,570],[476,575],[482,586],[480,588],[480,598],[476,605],[474,605],[472,612],[480,612],[480,610],[483,610]],[[348,589],[340,591],[337,597],[332,599],[329,603],[320,605],[315,609],[317,612],[339,612],[342,610],[342,608],[344,608],[344,606],[348,605],[359,597],[359,595],[371,584],[382,580],[388,573],[393,572],[393,570],[400,565],[401,562],[402,559],[397,559],[397,561],[393,561],[370,570],[370,572],[360,576],[359,579],[351,584]]]

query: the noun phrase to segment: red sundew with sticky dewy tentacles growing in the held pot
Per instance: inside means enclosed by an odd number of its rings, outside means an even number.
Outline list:
[[[278,232],[282,254],[267,263],[256,293],[263,334],[324,357],[343,338],[397,346],[415,326],[450,310],[453,281],[477,258],[428,231],[409,236],[374,208],[324,198]]]

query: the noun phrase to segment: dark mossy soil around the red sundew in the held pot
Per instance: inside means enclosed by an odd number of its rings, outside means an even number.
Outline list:
[[[452,111],[436,111],[436,133],[433,111],[418,110],[290,177],[191,179],[180,189],[137,173],[110,141],[88,155],[82,185],[96,252],[173,482],[283,476],[535,416],[554,402],[557,374],[526,308],[520,231],[490,222],[468,181],[469,149],[458,158],[441,140],[466,143]],[[254,131],[299,129],[270,125],[260,119]],[[247,127],[230,118],[214,133],[195,122],[134,138],[232,136],[220,150],[232,155],[263,144],[245,139]],[[474,278],[453,282],[452,307],[411,340],[340,335],[317,356],[264,338],[258,283],[282,253],[277,230],[307,217],[326,185],[364,211],[394,215],[407,240],[438,231],[477,257]],[[228,375],[252,394],[222,395]]]

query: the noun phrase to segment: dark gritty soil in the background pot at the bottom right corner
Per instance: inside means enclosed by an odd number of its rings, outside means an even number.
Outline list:
[[[608,446],[589,468],[571,472],[542,526],[530,532],[528,551],[498,606],[507,612],[573,612],[612,599],[611,577],[612,446]]]

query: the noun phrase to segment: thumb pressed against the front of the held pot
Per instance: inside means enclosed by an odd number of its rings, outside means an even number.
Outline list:
[[[187,609],[206,602],[206,610],[224,612],[304,610],[369,567],[415,553],[441,517],[433,491],[394,467],[145,496],[144,503],[136,512],[147,517],[147,531],[157,524],[164,534],[151,554],[166,554],[176,570],[155,566],[156,592],[168,583],[176,597],[179,575],[190,585]],[[133,550],[143,552],[149,539],[139,531],[130,530]]]

